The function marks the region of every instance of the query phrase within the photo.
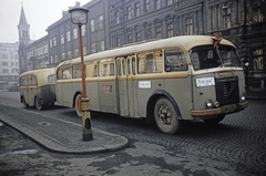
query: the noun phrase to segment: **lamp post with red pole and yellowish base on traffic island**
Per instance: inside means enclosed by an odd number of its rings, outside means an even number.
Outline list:
[[[80,56],[81,56],[81,72],[82,72],[82,99],[79,104],[81,104],[82,111],[82,139],[92,141],[93,134],[91,130],[91,112],[89,106],[89,97],[86,95],[86,83],[85,83],[85,71],[84,71],[84,59],[83,59],[83,44],[82,44],[82,31],[81,27],[88,23],[88,12],[89,10],[84,8],[73,8],[69,10],[71,15],[71,22],[78,24],[79,35],[80,35]]]

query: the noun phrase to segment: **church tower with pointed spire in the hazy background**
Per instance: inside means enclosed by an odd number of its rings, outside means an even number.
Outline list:
[[[19,68],[20,74],[28,71],[28,60],[25,48],[30,42],[30,25],[27,22],[23,4],[21,3],[20,21],[18,24],[19,30]]]

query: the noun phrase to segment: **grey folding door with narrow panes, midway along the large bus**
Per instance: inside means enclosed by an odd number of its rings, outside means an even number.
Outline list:
[[[134,93],[132,80],[132,56],[117,58],[119,112],[123,116],[134,116]]]

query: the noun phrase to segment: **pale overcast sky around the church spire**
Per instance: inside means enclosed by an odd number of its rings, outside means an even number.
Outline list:
[[[68,11],[76,1],[83,6],[90,0],[0,0],[0,42],[19,41],[17,25],[21,4],[30,24],[30,38],[38,40],[47,34],[50,24],[61,19],[62,11]]]

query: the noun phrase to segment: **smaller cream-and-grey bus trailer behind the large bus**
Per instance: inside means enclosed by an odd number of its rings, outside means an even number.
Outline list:
[[[24,72],[20,75],[20,102],[38,110],[55,103],[55,68],[44,68]]]

